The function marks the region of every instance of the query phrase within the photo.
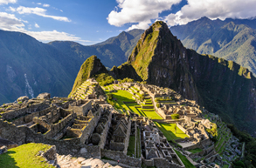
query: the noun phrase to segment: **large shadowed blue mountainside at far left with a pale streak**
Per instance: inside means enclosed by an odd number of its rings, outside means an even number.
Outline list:
[[[0,30],[0,104],[41,92],[66,96],[77,73],[78,60],[49,44],[19,32]]]

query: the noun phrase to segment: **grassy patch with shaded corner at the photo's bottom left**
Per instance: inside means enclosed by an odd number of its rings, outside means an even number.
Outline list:
[[[47,144],[23,144],[0,155],[0,167],[8,168],[44,168],[54,166],[47,164],[45,158],[36,156],[38,151],[46,151],[51,146]]]

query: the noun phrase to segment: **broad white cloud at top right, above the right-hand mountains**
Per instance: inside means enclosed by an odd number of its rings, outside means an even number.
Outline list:
[[[165,18],[169,25],[187,24],[200,17],[211,19],[248,18],[256,16],[255,0],[188,0],[188,4]]]

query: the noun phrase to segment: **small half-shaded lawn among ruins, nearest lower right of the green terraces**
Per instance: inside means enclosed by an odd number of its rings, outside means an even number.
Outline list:
[[[154,123],[160,129],[160,131],[163,132],[163,135],[167,138],[168,141],[176,140],[180,138],[188,138],[188,136],[183,131],[181,131],[178,127],[176,127],[176,132],[175,132],[176,124],[160,124],[157,122],[154,122]]]

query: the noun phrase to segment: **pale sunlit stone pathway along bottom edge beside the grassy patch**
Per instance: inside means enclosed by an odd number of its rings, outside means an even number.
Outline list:
[[[57,154],[57,163],[60,168],[121,168],[119,165],[104,163],[99,158],[72,158],[71,155]]]

